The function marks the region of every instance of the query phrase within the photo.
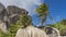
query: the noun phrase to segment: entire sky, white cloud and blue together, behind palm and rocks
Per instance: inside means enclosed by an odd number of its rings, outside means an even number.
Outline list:
[[[16,5],[19,8],[23,8],[29,11],[29,14],[33,17],[34,25],[41,24],[41,18],[37,17],[35,13],[35,9],[43,2],[44,0],[0,0],[6,7],[8,5]],[[55,20],[55,22],[59,22],[63,18],[66,18],[66,0],[45,0],[50,5],[51,16]],[[46,23],[54,23],[51,18],[47,17]]]

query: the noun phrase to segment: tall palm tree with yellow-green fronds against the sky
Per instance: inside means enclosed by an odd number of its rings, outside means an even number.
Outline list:
[[[43,23],[46,21],[48,12],[48,5],[46,3],[42,3],[38,5],[38,8],[35,10],[35,12],[38,14],[38,17],[41,17],[41,25],[43,26]]]

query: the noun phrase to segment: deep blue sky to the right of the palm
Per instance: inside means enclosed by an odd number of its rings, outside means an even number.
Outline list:
[[[53,18],[58,22],[66,18],[66,0],[46,0],[50,4],[50,12]]]

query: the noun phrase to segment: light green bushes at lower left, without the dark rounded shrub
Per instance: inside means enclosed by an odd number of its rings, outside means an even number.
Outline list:
[[[23,18],[24,20],[24,18]],[[21,28],[22,25],[22,17],[20,16],[20,20],[16,22],[16,24],[11,24],[8,33],[3,33],[0,29],[0,37],[15,37],[16,30]]]

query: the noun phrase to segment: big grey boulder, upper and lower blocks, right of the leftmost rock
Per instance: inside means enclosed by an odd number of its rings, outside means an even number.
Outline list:
[[[11,23],[15,23],[19,20],[19,16],[22,14],[26,14],[28,11],[21,8],[18,8],[15,5],[9,5],[7,8],[8,11],[8,15],[9,15],[9,20],[8,22]]]

